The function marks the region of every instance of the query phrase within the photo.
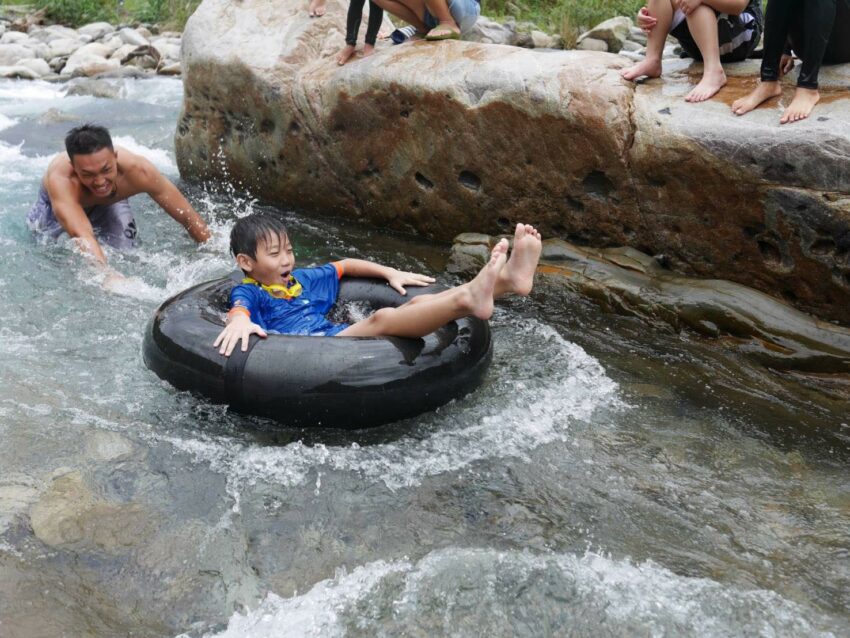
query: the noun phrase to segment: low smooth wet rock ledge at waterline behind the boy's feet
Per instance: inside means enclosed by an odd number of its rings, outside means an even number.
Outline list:
[[[496,240],[459,237],[451,272],[476,272]],[[631,248],[594,250],[546,240],[537,272],[605,310],[715,339],[731,337],[724,347],[771,369],[850,374],[850,329],[818,321],[752,288],[675,275]]]

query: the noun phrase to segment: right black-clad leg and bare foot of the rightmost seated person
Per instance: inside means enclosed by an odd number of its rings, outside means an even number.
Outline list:
[[[803,3],[803,46],[798,51],[803,64],[797,77],[794,99],[779,118],[780,124],[806,119],[820,100],[818,74],[835,23],[835,2],[806,0]]]

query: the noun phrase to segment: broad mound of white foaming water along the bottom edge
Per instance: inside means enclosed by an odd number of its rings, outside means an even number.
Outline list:
[[[651,561],[449,548],[416,564],[369,563],[300,596],[269,594],[206,638],[833,636],[807,616],[818,617],[775,592],[681,576]]]

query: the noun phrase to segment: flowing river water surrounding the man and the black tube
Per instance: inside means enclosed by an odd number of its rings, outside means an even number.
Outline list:
[[[118,294],[25,216],[68,128],[179,182],[179,80],[0,82],[0,635],[850,635],[846,395],[541,279],[483,386],[356,434],[281,431],[145,368],[170,295],[229,272],[239,185],[145,197]],[[280,211],[300,263],[443,273],[448,249]],[[476,229],[469,229],[476,230]],[[839,388],[840,390],[840,388]]]

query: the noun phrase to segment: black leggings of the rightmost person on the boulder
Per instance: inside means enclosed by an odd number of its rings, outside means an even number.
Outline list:
[[[762,81],[779,80],[780,60],[789,45],[803,61],[797,86],[818,88],[821,64],[850,62],[850,0],[770,0]]]

